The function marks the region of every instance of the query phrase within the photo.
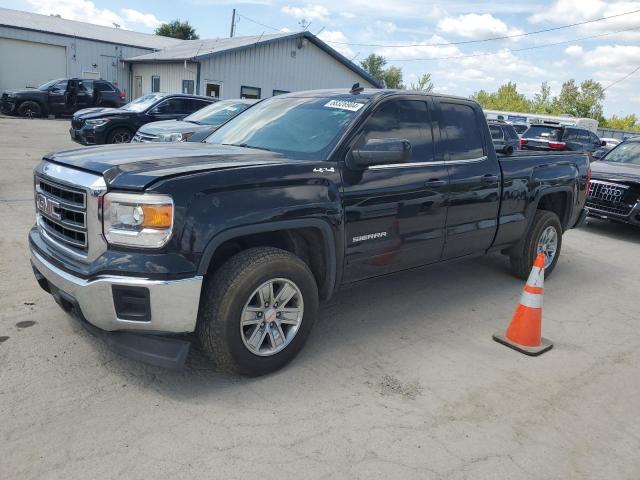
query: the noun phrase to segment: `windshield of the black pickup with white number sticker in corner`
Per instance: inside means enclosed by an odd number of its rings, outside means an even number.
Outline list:
[[[206,141],[323,160],[367,101],[353,96],[272,97],[225,123]]]

